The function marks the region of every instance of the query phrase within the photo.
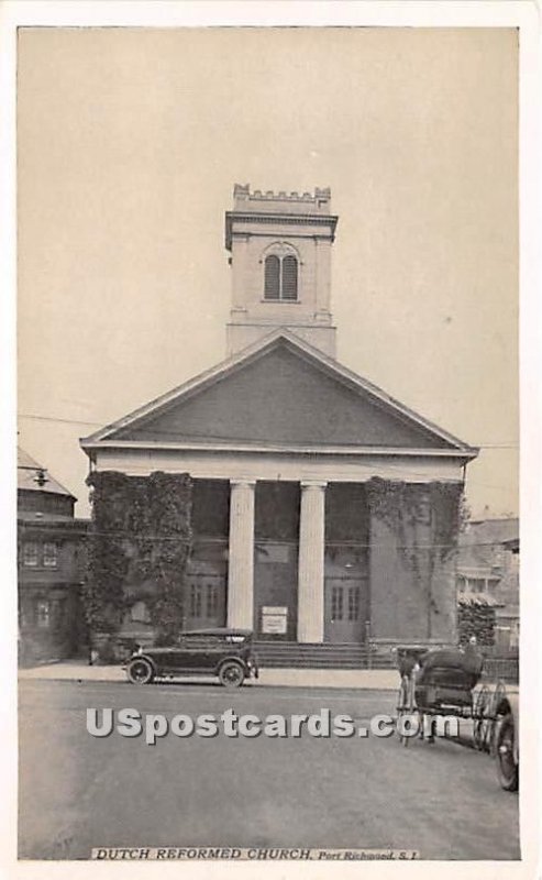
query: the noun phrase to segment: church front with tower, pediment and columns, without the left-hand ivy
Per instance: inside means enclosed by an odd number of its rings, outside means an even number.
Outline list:
[[[193,481],[187,629],[370,646],[456,638],[477,450],[336,361],[329,189],[234,188],[228,356],[81,440],[91,469]],[[142,603],[125,634],[148,632]]]

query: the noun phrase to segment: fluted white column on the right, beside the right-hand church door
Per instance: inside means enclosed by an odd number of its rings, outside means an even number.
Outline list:
[[[325,483],[301,483],[298,641],[323,641],[324,502]]]

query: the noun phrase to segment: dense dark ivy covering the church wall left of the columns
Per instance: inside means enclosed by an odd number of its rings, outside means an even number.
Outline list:
[[[92,520],[84,603],[92,632],[118,632],[145,598],[157,639],[172,641],[182,624],[182,584],[191,549],[189,474],[89,475]]]

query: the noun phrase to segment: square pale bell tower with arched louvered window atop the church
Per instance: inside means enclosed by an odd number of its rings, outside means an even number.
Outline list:
[[[330,189],[251,193],[235,184],[225,215],[232,268],[228,353],[284,327],[335,356],[330,311],[331,245],[338,218]]]

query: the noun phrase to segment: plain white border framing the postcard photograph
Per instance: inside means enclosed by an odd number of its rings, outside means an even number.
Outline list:
[[[522,855],[519,862],[411,862],[364,864],[364,877],[388,877],[399,871],[401,876],[419,880],[427,871],[433,877],[446,878],[457,873],[463,878],[522,877],[535,878],[541,873],[539,862],[539,839],[542,828],[539,813],[540,763],[537,762],[537,741],[540,721],[540,620],[542,618],[542,570],[540,563],[540,521],[542,512],[542,486],[540,480],[540,449],[542,447],[542,392],[540,382],[540,352],[542,308],[539,297],[540,284],[540,33],[538,15],[540,9],[534,2],[24,2],[7,0],[0,7],[2,24],[0,44],[0,75],[2,84],[3,124],[0,129],[1,152],[4,158],[0,177],[0,224],[4,239],[1,249],[2,284],[12,296],[0,297],[0,348],[3,360],[0,370],[0,391],[2,399],[3,442],[0,447],[2,474],[1,517],[2,531],[0,552],[7,563],[7,578],[2,579],[2,619],[15,620],[15,455],[12,442],[14,431],[14,289],[15,289],[15,38],[16,28],[22,25],[44,26],[204,26],[204,25],[305,25],[305,26],[417,26],[417,28],[520,28],[520,226],[521,226],[521,558],[522,587],[522,754],[529,754],[529,772],[526,762],[521,773],[521,825]],[[9,679],[8,712],[2,713],[3,741],[12,746],[15,741],[15,657],[14,639],[0,640],[0,658],[3,661],[4,676]],[[9,635],[13,635],[10,632]],[[7,672],[8,671],[8,672]],[[10,674],[12,673],[12,674]],[[4,686],[7,681],[3,681]],[[132,864],[114,869],[109,864],[91,862],[16,862],[15,858],[15,814],[16,763],[10,749],[4,751],[2,762],[3,798],[0,806],[2,820],[2,854],[4,876],[40,877],[109,877],[130,876],[146,878],[157,873],[156,865]],[[535,768],[538,773],[534,772]],[[499,795],[497,795],[498,798]],[[506,796],[506,795],[502,795]],[[412,804],[416,809],[416,804]],[[498,810],[498,799],[495,802]],[[258,875],[284,877],[328,878],[329,866],[310,866],[288,862],[287,868],[259,862]],[[209,877],[254,877],[251,864],[159,865],[159,876],[179,877],[179,872],[190,878]],[[360,867],[341,864],[338,877],[358,877]]]

